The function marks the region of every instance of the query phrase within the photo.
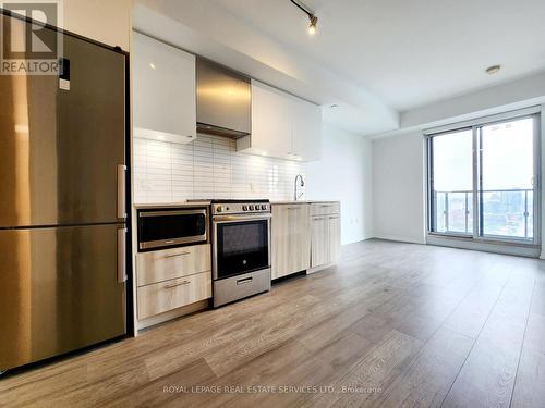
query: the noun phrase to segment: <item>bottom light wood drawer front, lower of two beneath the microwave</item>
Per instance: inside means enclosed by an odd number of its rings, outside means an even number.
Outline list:
[[[211,297],[211,273],[170,280],[138,287],[138,319],[180,308]]]

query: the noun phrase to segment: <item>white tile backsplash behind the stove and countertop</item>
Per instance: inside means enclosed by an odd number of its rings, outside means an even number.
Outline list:
[[[198,135],[187,145],[134,139],[135,203],[209,198],[290,199],[305,164],[237,152],[234,140]]]

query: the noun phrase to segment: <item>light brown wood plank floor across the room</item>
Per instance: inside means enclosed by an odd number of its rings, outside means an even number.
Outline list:
[[[545,262],[377,239],[0,380],[0,406],[545,407]]]

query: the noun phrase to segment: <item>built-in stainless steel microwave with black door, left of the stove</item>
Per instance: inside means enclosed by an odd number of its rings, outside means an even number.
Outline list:
[[[138,250],[172,248],[208,242],[208,209],[138,210]]]

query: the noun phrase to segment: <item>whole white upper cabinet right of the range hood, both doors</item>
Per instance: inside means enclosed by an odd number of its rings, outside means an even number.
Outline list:
[[[237,140],[237,150],[290,160],[319,160],[322,110],[252,81],[252,134]]]

